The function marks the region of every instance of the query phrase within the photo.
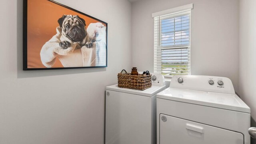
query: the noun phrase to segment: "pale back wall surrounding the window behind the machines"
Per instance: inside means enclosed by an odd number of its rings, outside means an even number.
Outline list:
[[[154,12],[194,3],[191,74],[224,76],[238,90],[239,0],[141,0],[132,3],[132,66],[153,71]]]

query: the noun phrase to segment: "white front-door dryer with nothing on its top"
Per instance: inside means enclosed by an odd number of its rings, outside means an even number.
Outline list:
[[[228,78],[173,76],[157,94],[157,144],[250,144],[250,108]]]

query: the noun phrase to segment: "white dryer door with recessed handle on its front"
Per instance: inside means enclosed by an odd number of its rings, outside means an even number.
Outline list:
[[[241,133],[160,114],[160,144],[244,144]]]

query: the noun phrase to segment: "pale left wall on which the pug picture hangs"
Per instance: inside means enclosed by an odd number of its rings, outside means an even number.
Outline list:
[[[108,67],[22,71],[22,0],[0,2],[0,144],[103,144],[104,90],[131,68],[127,0],[58,0],[108,22]]]

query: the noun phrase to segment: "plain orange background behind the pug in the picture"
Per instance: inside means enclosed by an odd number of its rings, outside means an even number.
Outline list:
[[[28,68],[46,68],[41,62],[40,51],[42,46],[57,33],[58,19],[64,14],[80,16],[85,20],[86,28],[90,23],[99,22],[48,0],[28,0]],[[52,68],[63,68],[58,58]]]

